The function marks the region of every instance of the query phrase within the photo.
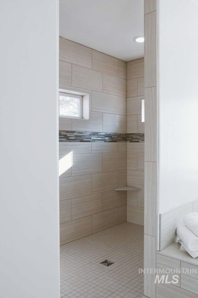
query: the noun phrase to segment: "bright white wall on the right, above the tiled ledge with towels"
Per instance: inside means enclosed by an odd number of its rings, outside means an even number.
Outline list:
[[[198,0],[158,0],[159,211],[198,198]]]

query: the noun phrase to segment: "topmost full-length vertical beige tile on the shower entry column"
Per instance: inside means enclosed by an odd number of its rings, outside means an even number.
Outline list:
[[[144,87],[157,84],[156,11],[144,16]]]

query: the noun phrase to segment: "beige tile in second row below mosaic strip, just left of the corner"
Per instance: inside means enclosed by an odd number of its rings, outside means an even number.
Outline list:
[[[102,171],[112,172],[127,169],[127,153],[103,153],[102,154]]]

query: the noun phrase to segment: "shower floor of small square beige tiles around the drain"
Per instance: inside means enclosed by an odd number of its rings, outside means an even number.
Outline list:
[[[126,222],[62,245],[60,297],[142,298],[143,242],[144,227]]]

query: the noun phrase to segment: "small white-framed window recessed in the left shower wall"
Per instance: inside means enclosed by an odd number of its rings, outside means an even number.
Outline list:
[[[59,116],[82,119],[82,96],[59,92]]]

